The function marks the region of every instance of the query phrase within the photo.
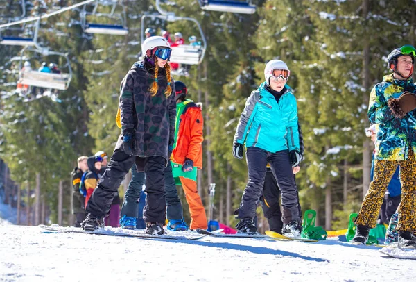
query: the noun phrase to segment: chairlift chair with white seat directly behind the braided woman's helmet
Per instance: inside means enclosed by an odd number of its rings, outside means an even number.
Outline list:
[[[202,44],[199,46],[182,44],[177,47],[173,47],[172,53],[171,53],[171,62],[181,63],[185,65],[199,65],[204,59],[205,51],[207,50],[207,40],[205,40],[205,35],[202,31],[202,28],[199,22],[193,17],[178,17],[178,16],[175,16],[175,13],[171,13],[171,12],[168,13],[162,10],[162,8],[160,8],[159,6],[159,0],[156,0],[156,8],[159,11],[159,14],[143,15],[141,17],[141,32],[140,32],[141,42],[144,42],[145,40],[144,19],[146,19],[146,17],[149,17],[151,19],[155,19],[155,18],[165,19],[168,22],[175,22],[178,20],[194,22],[198,26],[198,30],[200,32],[200,38],[202,39]]]

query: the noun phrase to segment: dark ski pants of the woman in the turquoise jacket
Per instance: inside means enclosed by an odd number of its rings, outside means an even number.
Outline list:
[[[270,153],[257,147],[248,147],[245,156],[248,165],[248,183],[241,198],[238,218],[254,219],[257,203],[263,192],[266,165],[269,163],[281,191],[282,222],[301,223],[297,204],[299,199],[288,150]]]

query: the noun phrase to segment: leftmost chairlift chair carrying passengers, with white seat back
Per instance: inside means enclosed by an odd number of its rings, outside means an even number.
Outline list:
[[[36,70],[22,72],[22,61],[24,58],[25,51],[33,51],[35,53],[40,53],[42,54],[42,56],[62,56],[67,60],[67,64],[64,65],[64,67],[68,67],[69,72],[67,74],[52,74],[47,72],[37,72]],[[49,49],[24,48],[23,50],[21,50],[19,69],[20,72],[18,83],[21,83],[22,85],[31,85],[40,88],[49,88],[57,90],[67,90],[69,87],[69,83],[71,83],[72,69],[71,63],[69,62],[69,58],[66,53],[49,51]]]

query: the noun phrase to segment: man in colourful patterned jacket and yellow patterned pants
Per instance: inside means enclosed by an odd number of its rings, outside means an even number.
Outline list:
[[[374,179],[356,217],[354,244],[367,242],[370,229],[376,226],[385,190],[399,165],[399,247],[416,247],[412,240],[416,231],[416,86],[411,78],[415,57],[416,49],[411,45],[394,49],[387,58],[393,74],[384,76],[370,94],[368,118],[377,127]]]

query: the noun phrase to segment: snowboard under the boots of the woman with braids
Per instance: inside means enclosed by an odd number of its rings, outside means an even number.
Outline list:
[[[80,227],[62,227],[57,224],[50,226],[40,225],[40,228],[57,233],[82,233],[90,235],[106,235],[106,236],[120,236],[120,237],[130,237],[130,238],[150,238],[150,239],[167,239],[167,240],[199,240],[204,238],[207,235],[189,235],[190,232],[187,231],[167,231],[163,235],[149,235],[145,234],[144,230],[128,230],[121,228],[111,228],[106,226],[105,228],[97,229],[95,231],[83,231]],[[166,231],[165,231],[166,232]],[[182,232],[186,232],[186,235],[182,235]],[[182,234],[181,234],[182,233]],[[174,234],[174,235],[173,235]]]

